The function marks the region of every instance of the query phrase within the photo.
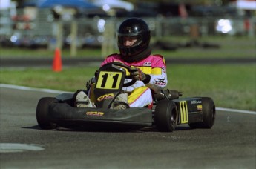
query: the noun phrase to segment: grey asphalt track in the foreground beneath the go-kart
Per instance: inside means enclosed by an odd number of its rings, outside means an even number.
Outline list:
[[[211,129],[41,130],[36,104],[57,93],[0,87],[0,168],[252,168],[256,116],[217,110]]]

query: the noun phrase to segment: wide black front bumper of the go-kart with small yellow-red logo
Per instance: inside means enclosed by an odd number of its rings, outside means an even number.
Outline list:
[[[115,110],[107,108],[78,108],[67,103],[49,105],[48,120],[58,125],[119,125],[146,127],[152,125],[152,110],[131,107]]]

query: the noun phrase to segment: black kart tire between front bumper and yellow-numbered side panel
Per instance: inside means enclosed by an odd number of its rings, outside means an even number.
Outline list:
[[[177,106],[173,101],[162,100],[157,103],[154,112],[154,122],[157,130],[172,132],[177,126]]]

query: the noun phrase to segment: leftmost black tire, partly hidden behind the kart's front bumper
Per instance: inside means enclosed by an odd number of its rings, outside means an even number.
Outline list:
[[[48,120],[49,105],[58,102],[54,97],[43,97],[39,100],[36,107],[36,120],[42,129],[55,129],[56,125]]]

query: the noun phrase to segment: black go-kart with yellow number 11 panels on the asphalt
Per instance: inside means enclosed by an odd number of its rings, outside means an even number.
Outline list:
[[[211,128],[214,125],[215,105],[209,97],[180,98],[177,90],[161,90],[153,94],[154,105],[112,109],[111,104],[122,92],[136,82],[126,74],[131,68],[119,62],[105,64],[96,73],[94,94],[96,107],[76,107],[73,93],[56,97],[44,97],[36,107],[36,119],[42,129],[56,127],[156,127],[163,132],[172,132],[180,124],[192,128]]]

